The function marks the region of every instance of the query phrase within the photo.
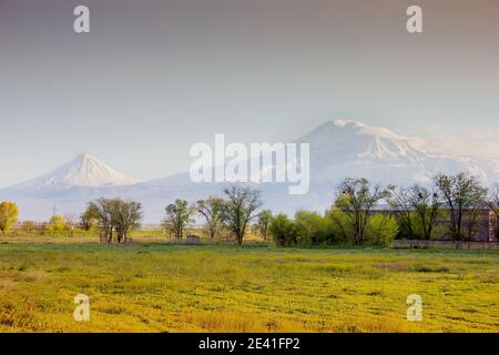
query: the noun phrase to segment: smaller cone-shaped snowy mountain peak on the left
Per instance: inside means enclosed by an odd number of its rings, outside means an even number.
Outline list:
[[[132,178],[106,165],[95,156],[83,153],[74,160],[41,178],[24,182],[17,189],[68,189],[68,187],[100,187],[133,184]]]

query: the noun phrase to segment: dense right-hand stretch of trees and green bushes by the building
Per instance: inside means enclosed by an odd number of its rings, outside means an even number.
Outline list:
[[[499,216],[499,185],[489,194],[478,178],[465,172],[439,173],[430,187],[346,179],[324,214],[298,211],[294,219],[278,214],[268,230],[278,245],[389,245],[396,237],[462,242],[472,240],[483,210]]]

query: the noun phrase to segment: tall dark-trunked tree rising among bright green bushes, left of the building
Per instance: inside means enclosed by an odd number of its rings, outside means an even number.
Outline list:
[[[354,230],[355,244],[361,244],[365,240],[366,225],[373,207],[388,197],[388,190],[380,185],[371,186],[366,179],[346,179],[339,184],[335,207],[348,216]]]

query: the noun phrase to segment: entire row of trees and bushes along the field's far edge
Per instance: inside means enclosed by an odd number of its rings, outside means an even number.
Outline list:
[[[383,186],[366,179],[345,179],[324,213],[301,210],[289,217],[283,213],[273,215],[262,206],[258,190],[228,185],[223,189],[223,196],[210,196],[193,204],[179,199],[169,204],[162,225],[180,240],[197,216],[211,239],[230,233],[238,244],[249,231],[265,241],[272,237],[282,246],[388,245],[396,237],[448,237],[460,242],[472,239],[483,209],[499,216],[499,185],[489,194],[478,178],[465,172],[439,173],[431,186]],[[142,216],[139,202],[101,197],[88,204],[80,216],[80,227],[98,230],[101,242],[126,243],[130,231],[140,227]],[[0,203],[0,231],[4,233],[17,219],[14,203]],[[47,230],[69,230],[74,221],[67,220],[54,215]]]

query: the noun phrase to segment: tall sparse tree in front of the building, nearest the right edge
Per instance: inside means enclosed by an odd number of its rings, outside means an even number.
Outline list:
[[[450,214],[452,240],[460,242],[471,239],[479,212],[486,205],[487,189],[478,178],[466,172],[457,175],[437,174],[435,184]]]

